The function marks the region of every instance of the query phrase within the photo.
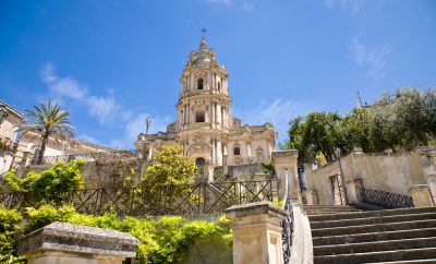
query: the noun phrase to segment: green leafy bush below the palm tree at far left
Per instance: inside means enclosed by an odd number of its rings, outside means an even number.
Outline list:
[[[29,171],[23,179],[16,179],[15,171],[11,170],[5,180],[11,191],[33,192],[40,195],[45,203],[60,205],[71,191],[84,188],[85,181],[80,170],[84,163],[82,159],[72,160],[66,165],[59,161],[40,173]]]

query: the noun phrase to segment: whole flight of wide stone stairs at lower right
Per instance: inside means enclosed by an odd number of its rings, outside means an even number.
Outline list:
[[[436,263],[436,207],[304,206],[314,263]]]

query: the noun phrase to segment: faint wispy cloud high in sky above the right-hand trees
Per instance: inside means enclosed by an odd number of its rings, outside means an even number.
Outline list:
[[[361,67],[368,67],[367,75],[372,79],[379,79],[388,63],[388,56],[392,51],[390,45],[385,44],[375,48],[370,48],[361,43],[360,37],[355,36],[350,44],[350,52],[354,62]]]

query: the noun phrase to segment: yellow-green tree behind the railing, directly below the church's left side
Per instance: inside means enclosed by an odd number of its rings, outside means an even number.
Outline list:
[[[141,185],[154,203],[162,195],[166,201],[174,202],[175,196],[190,191],[196,175],[194,159],[183,155],[181,145],[164,145],[146,169]]]

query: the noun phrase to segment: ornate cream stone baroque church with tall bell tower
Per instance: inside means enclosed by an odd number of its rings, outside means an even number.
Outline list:
[[[180,77],[178,120],[166,132],[138,135],[136,149],[152,158],[164,144],[178,143],[196,165],[240,166],[268,161],[276,151],[277,133],[271,123],[241,124],[230,115],[229,74],[203,35]]]

